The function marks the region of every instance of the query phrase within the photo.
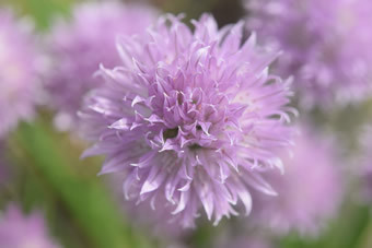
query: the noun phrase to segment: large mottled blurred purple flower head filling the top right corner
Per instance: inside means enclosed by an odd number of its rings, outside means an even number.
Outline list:
[[[247,8],[248,27],[284,51],[275,72],[294,75],[304,106],[371,93],[371,1],[254,0]]]

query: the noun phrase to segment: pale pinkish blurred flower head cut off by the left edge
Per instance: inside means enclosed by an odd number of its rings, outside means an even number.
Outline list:
[[[10,11],[0,10],[0,139],[34,114],[34,45],[30,23],[16,22]]]

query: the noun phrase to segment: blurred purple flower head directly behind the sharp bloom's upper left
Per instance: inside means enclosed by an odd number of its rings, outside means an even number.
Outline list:
[[[100,84],[92,75],[100,63],[115,67],[120,62],[116,36],[142,33],[155,16],[144,5],[91,2],[79,4],[70,22],[56,23],[48,40],[54,66],[47,88],[50,104],[59,111],[57,121],[73,125],[83,96]]]

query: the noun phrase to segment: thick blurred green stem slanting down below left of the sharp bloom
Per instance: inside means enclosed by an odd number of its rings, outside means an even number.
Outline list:
[[[79,157],[63,153],[58,139],[53,139],[49,127],[37,120],[22,123],[14,135],[15,144],[26,154],[30,166],[35,166],[61,201],[72,213],[83,233],[96,248],[151,247],[140,234],[123,220],[98,180],[77,174],[70,165],[79,165]]]

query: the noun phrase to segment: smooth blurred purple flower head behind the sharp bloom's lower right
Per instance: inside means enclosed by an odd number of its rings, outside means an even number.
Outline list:
[[[302,127],[301,131],[293,156],[283,158],[284,175],[266,173],[265,178],[278,196],[259,194],[260,200],[253,208],[258,223],[279,235],[290,231],[316,235],[325,221],[335,215],[341,198],[340,168],[332,142],[309,128]]]

